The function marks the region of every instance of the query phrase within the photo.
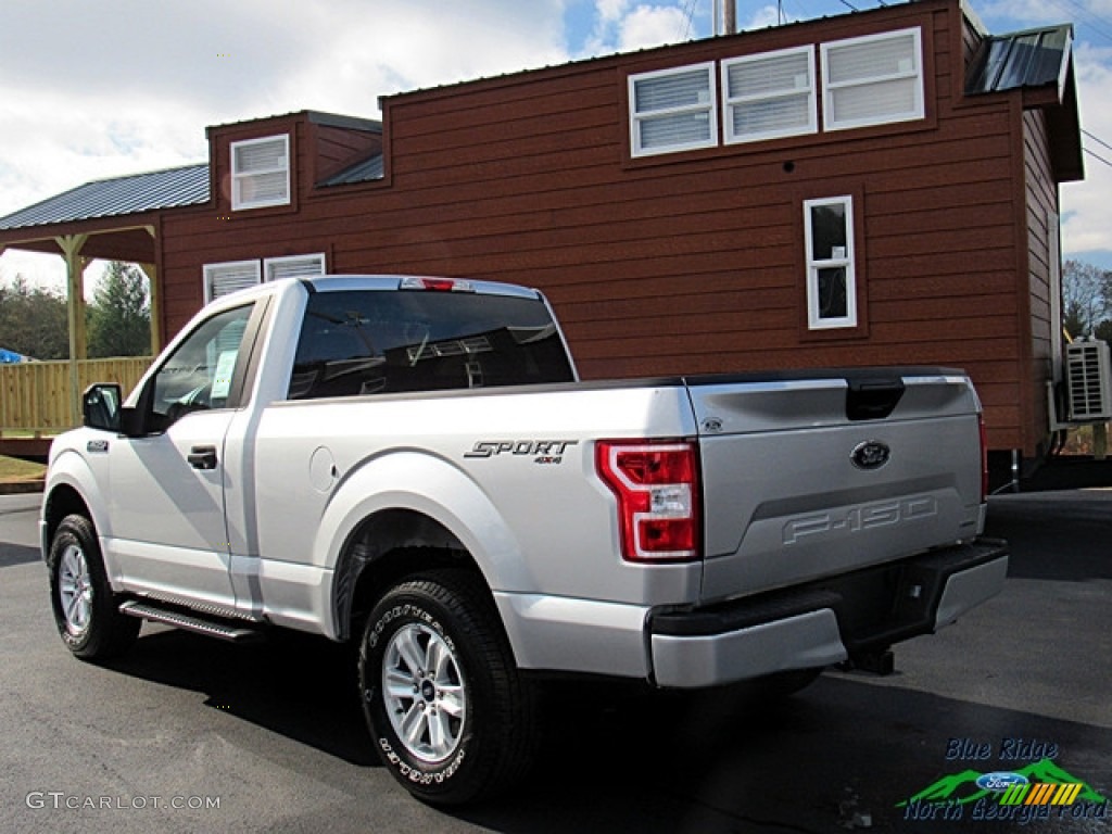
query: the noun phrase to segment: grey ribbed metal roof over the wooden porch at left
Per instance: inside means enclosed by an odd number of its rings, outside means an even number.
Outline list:
[[[0,231],[196,206],[209,199],[208,162],[86,182],[7,217]]]

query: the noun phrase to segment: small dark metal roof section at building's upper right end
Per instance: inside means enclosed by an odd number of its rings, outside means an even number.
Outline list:
[[[1073,44],[1069,23],[985,38],[971,61],[966,95],[1065,82]]]

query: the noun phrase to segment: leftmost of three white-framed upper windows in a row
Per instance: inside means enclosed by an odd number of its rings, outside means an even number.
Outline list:
[[[714,63],[629,77],[629,131],[635,157],[717,145]]]

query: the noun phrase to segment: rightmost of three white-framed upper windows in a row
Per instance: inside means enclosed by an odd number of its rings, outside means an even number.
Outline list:
[[[919,28],[823,43],[822,61],[824,129],[924,117]]]

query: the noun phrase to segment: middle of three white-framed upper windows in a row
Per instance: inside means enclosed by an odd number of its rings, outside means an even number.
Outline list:
[[[722,63],[726,143],[818,129],[812,47],[734,58]]]

